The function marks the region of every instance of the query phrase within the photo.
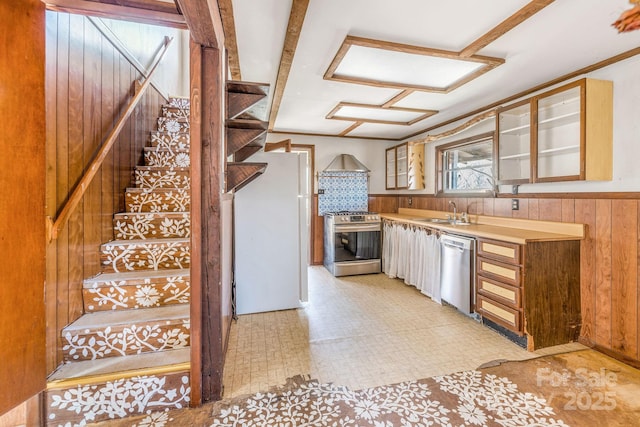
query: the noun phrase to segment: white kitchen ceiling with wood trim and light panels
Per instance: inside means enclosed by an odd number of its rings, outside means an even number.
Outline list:
[[[458,52],[527,3],[310,0],[273,130],[339,135],[353,122],[326,118],[338,104],[382,105],[402,92],[325,80],[323,76],[346,36]],[[270,96],[291,4],[291,0],[233,0],[242,80],[269,83]],[[556,0],[477,52],[504,59],[504,64],[449,93],[413,92],[394,104],[438,110],[437,114],[410,126],[364,123],[348,136],[403,139],[636,48],[640,46],[640,31],[618,34],[611,26],[631,6],[627,0]],[[418,78],[424,71],[413,72]],[[407,73],[402,74],[406,79]]]

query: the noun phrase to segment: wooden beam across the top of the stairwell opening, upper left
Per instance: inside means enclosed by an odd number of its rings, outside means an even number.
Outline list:
[[[100,3],[85,0],[43,0],[48,10],[55,12],[75,13],[78,15],[97,16],[109,19],[125,19],[143,24],[162,25],[166,27],[186,29],[184,17],[176,8],[168,12],[166,8],[150,9],[149,2],[137,3],[139,7],[121,6],[117,4]],[[142,3],[147,7],[141,8]]]

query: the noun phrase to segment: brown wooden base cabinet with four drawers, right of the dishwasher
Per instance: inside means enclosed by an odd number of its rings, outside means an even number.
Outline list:
[[[476,311],[483,323],[531,351],[578,338],[578,240],[477,243]]]

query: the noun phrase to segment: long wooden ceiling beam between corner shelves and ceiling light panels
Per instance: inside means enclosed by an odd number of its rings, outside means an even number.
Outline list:
[[[278,110],[280,109],[280,103],[282,102],[282,95],[284,94],[284,88],[287,85],[287,80],[289,79],[289,71],[291,71],[291,64],[293,63],[293,57],[296,53],[298,39],[300,38],[300,32],[302,30],[302,24],[304,23],[304,17],[307,14],[308,6],[309,0],[293,0],[293,4],[291,5],[289,24],[287,25],[287,35],[284,39],[284,46],[282,47],[278,77],[276,79],[276,85],[273,89],[273,98],[271,100],[271,113],[269,114],[270,131],[273,130],[276,117],[278,116]]]

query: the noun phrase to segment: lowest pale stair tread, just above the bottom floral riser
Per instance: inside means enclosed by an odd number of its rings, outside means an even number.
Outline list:
[[[189,362],[189,347],[153,353],[141,353],[131,356],[107,357],[96,360],[82,360],[61,365],[52,373],[47,388],[55,388],[56,381],[83,378],[96,375],[113,374],[114,378],[126,377],[127,372],[140,369],[160,368]]]

